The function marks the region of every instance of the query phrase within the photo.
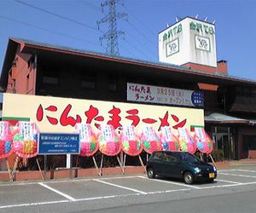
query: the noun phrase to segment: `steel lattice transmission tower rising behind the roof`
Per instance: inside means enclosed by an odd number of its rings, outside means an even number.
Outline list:
[[[124,18],[127,14],[116,12],[116,3],[121,2],[121,0],[106,0],[101,3],[102,12],[105,6],[109,6],[108,14],[102,18],[102,20],[97,21],[98,27],[100,24],[108,23],[108,32],[105,32],[100,38],[101,44],[102,39],[107,39],[106,53],[109,55],[119,55],[119,36],[125,35],[125,32],[117,30],[117,20]]]

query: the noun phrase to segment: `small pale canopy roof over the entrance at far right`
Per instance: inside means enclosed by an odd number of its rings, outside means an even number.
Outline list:
[[[206,123],[217,123],[217,124],[256,124],[255,120],[236,118],[221,113],[211,113],[205,115]]]

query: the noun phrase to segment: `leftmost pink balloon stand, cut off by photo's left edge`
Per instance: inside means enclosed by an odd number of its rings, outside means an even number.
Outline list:
[[[13,153],[13,135],[9,130],[9,122],[0,121],[0,158],[7,158]]]

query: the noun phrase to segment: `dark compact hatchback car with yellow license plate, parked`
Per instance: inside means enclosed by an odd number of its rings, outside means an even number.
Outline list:
[[[185,183],[192,184],[194,181],[213,181],[217,170],[190,153],[157,151],[148,159],[147,174],[148,178],[168,176],[182,178]]]

